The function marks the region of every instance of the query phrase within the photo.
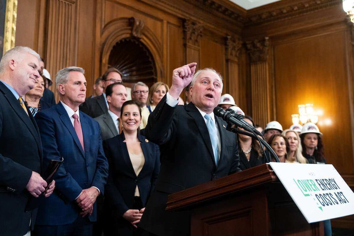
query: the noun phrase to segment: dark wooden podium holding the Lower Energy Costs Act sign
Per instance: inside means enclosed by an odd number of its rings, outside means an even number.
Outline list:
[[[167,211],[190,209],[192,236],[324,235],[307,223],[268,164],[175,194]]]

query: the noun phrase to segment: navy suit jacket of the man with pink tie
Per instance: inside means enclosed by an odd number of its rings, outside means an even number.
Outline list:
[[[73,223],[80,211],[75,198],[82,189],[95,186],[101,194],[104,193],[108,161],[102,148],[100,128],[90,116],[81,111],[79,114],[85,151],[82,150],[74,126],[61,102],[35,116],[42,140],[44,169],[50,160],[64,158],[54,177],[55,191],[44,199],[38,209],[38,225]],[[96,203],[89,218],[90,221],[96,221]]]

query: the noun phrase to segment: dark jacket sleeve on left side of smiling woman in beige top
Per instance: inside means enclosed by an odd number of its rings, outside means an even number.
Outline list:
[[[105,186],[105,202],[109,206],[109,210],[112,212],[114,220],[117,220],[121,217],[126,211],[129,210],[127,205],[124,202],[122,195],[120,194],[118,188],[115,186],[113,181],[114,175],[114,162],[113,156],[111,153],[111,148],[106,140],[103,141],[103,150],[107,157],[109,163],[108,169],[108,180]]]

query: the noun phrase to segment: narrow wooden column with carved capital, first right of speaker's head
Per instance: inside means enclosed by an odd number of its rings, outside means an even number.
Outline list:
[[[224,82],[224,92],[229,93],[234,99],[235,103],[239,105],[239,50],[242,41],[240,38],[226,37],[226,78]]]

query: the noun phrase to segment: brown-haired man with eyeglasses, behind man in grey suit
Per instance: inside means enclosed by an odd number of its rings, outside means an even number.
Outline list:
[[[100,115],[103,115],[108,111],[108,102],[105,94],[106,88],[110,84],[114,84],[114,83],[122,84],[122,73],[116,68],[109,68],[102,75],[102,81],[103,81],[102,95],[91,99],[86,99],[85,102],[80,105],[80,110],[86,113],[87,115],[91,116],[92,118],[96,118]],[[127,92],[128,94],[130,94],[128,88],[127,88]],[[130,96],[128,96],[127,100],[130,99],[131,99]]]

